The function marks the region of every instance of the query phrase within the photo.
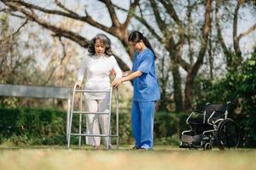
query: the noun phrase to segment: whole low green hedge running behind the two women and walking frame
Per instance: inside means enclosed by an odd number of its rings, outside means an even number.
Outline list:
[[[178,144],[179,132],[188,129],[186,114],[159,112],[154,119],[156,144]],[[67,144],[66,112],[42,109],[0,108],[0,144]],[[112,133],[116,131],[115,114],[112,116]],[[79,116],[73,117],[73,132],[79,132]],[[82,132],[85,131],[83,118]],[[84,138],[82,138],[84,143]],[[114,144],[113,138],[112,142]],[[72,144],[78,144],[78,137],[72,137]],[[119,143],[133,144],[130,114],[119,114]]]

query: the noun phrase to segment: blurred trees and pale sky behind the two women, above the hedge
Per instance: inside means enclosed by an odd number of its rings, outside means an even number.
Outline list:
[[[253,0],[0,0],[0,81],[72,87],[99,32],[111,38],[120,68],[130,70],[127,37],[138,30],[157,54],[159,111],[189,112],[231,100],[236,116],[244,117],[241,127],[256,141],[255,16]],[[128,107],[128,84],[121,93]],[[3,107],[42,103],[0,100]]]

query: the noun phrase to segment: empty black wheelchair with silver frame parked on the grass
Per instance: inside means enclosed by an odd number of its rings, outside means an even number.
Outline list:
[[[192,111],[186,120],[190,129],[181,134],[180,148],[212,150],[236,149],[239,145],[239,129],[229,118],[232,103],[212,105],[207,103],[204,111]]]

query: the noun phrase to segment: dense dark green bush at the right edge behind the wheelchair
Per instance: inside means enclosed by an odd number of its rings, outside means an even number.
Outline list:
[[[197,107],[206,102],[232,101],[235,111],[231,116],[241,128],[242,144],[256,146],[256,49],[239,69],[230,71],[222,79],[203,80]]]

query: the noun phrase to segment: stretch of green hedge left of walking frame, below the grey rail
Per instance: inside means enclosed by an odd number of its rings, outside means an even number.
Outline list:
[[[65,114],[40,109],[0,109],[0,141],[6,144],[64,144]],[[60,143],[61,142],[61,143]]]

